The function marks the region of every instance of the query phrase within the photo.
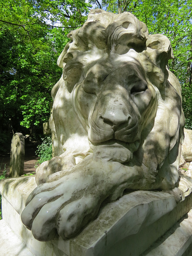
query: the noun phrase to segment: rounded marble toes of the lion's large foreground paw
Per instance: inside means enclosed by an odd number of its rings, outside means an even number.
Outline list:
[[[69,238],[78,233],[90,217],[96,215],[98,210],[94,210],[94,206],[97,202],[91,196],[82,196],[67,204],[71,200],[71,195],[67,194],[67,190],[65,195],[60,196],[54,190],[41,192],[24,209],[22,222],[32,230],[36,239],[51,240],[56,232],[64,239]]]

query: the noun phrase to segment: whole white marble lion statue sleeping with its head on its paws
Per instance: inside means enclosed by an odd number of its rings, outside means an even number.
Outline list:
[[[124,190],[178,186],[184,115],[168,38],[100,9],[68,37],[52,89],[54,157],[38,167],[22,212],[40,241],[75,236]]]

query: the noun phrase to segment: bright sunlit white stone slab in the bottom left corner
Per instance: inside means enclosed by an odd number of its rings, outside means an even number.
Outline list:
[[[0,255],[35,256],[4,220],[0,220]]]

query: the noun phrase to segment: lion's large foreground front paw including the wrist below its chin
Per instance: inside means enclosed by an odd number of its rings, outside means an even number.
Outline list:
[[[28,197],[22,222],[37,240],[51,240],[57,232],[70,238],[96,216],[107,197],[122,195],[126,183],[119,177],[120,163],[84,160],[59,180],[40,184]]]

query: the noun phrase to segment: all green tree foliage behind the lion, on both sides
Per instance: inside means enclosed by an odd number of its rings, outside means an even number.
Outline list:
[[[91,5],[114,13],[132,12],[146,23],[150,34],[168,36],[175,56],[170,70],[183,88],[186,127],[192,126],[192,2],[89,2],[0,0],[0,133],[7,134],[4,144],[10,143],[13,132],[34,135],[42,131],[50,115],[51,89],[61,75],[57,58],[69,40],[66,35],[82,26]]]

